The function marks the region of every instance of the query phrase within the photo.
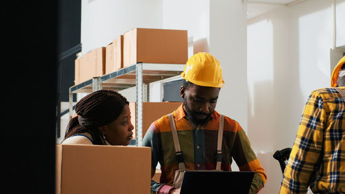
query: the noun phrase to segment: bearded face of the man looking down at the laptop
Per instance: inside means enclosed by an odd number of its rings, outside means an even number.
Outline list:
[[[181,86],[180,94],[184,99],[184,110],[193,126],[205,126],[215,110],[219,88],[206,86]]]

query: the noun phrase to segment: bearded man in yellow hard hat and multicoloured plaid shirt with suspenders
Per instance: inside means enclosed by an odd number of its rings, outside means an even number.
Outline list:
[[[151,193],[179,193],[185,170],[231,171],[233,159],[240,171],[255,172],[249,193],[257,193],[267,179],[264,168],[239,123],[215,111],[224,86],[219,61],[199,52],[181,77],[184,103],[153,122],[143,139],[143,146],[152,148],[152,177],[161,164],[160,182],[151,182]]]

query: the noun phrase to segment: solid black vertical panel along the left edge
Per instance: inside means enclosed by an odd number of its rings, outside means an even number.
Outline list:
[[[1,3],[0,193],[55,193],[57,4]]]

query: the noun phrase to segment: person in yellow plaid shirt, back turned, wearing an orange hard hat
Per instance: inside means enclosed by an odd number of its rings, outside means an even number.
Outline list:
[[[345,57],[309,96],[279,193],[345,193]]]

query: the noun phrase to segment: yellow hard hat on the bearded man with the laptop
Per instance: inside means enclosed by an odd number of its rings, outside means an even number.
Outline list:
[[[224,80],[219,61],[206,52],[198,52],[188,59],[181,77],[198,86],[222,88]]]

